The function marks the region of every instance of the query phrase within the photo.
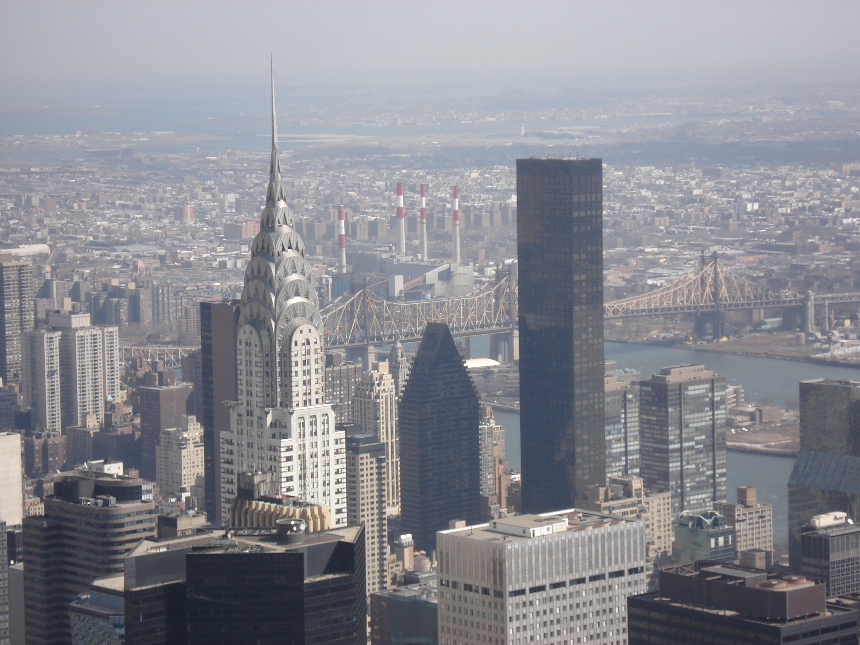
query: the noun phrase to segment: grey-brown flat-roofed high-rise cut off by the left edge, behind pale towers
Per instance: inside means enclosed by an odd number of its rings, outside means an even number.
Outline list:
[[[21,378],[22,336],[33,329],[33,267],[29,262],[0,262],[0,376]]]

